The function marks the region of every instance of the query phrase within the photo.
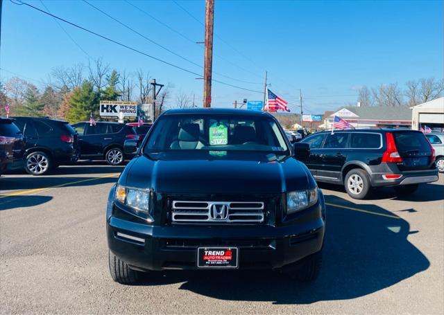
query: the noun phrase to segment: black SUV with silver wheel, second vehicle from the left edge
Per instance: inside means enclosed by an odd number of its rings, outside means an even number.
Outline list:
[[[58,165],[77,161],[77,134],[66,121],[15,117],[15,124],[26,138],[25,170],[29,174],[47,174]]]

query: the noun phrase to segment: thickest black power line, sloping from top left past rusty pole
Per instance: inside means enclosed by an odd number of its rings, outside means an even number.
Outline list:
[[[12,3],[14,3],[14,2],[12,2]],[[45,10],[42,10],[42,9],[40,9],[40,8],[37,8],[37,7],[35,7],[35,6],[33,6],[33,5],[29,4],[29,3],[26,3],[26,2],[21,2],[21,3],[22,3],[23,5],[25,5],[25,6],[28,6],[29,8],[33,8],[34,10],[37,10],[37,11],[39,11],[39,12],[42,12],[42,13],[44,13],[45,15],[49,15],[50,17],[54,17],[54,18],[58,19],[59,21],[63,21],[63,22],[65,22],[65,23],[67,23],[67,24],[69,24],[69,25],[71,25],[71,26],[76,27],[76,28],[80,28],[80,30],[84,30],[84,31],[87,32],[87,33],[90,33],[90,34],[92,34],[92,35],[96,35],[97,37],[101,37],[102,39],[105,39],[105,40],[107,40],[108,42],[112,42],[112,43],[114,43],[114,44],[117,44],[117,45],[119,45],[119,46],[122,46],[122,47],[124,47],[124,48],[127,48],[127,49],[129,49],[130,51],[134,51],[134,52],[136,52],[136,53],[139,53],[139,54],[141,54],[141,55],[144,55],[144,56],[146,56],[146,57],[149,57],[149,58],[151,58],[151,59],[153,59],[153,60],[157,60],[158,62],[162,62],[163,64],[167,64],[167,65],[169,65],[169,66],[172,66],[173,68],[176,68],[176,69],[179,69],[179,70],[185,71],[185,72],[187,72],[187,73],[191,73],[191,74],[193,74],[193,75],[197,75],[198,77],[201,77],[201,76],[202,76],[200,73],[196,73],[196,72],[194,72],[194,71],[191,71],[191,70],[185,69],[185,68],[183,68],[182,66],[178,66],[177,64],[173,64],[173,63],[171,63],[171,62],[167,62],[167,61],[162,60],[162,59],[160,59],[160,58],[154,57],[153,55],[149,55],[148,53],[144,53],[143,51],[139,51],[139,50],[136,49],[136,48],[133,48],[133,47],[128,46],[128,45],[126,45],[126,44],[122,44],[121,42],[118,42],[117,40],[114,40],[114,39],[111,39],[110,37],[106,37],[105,35],[101,35],[101,34],[99,34],[99,33],[96,33],[96,32],[94,32],[93,30],[89,30],[89,29],[87,29],[87,28],[84,28],[83,26],[80,26],[80,25],[78,25],[78,24],[75,24],[75,23],[73,23],[73,22],[71,22],[71,21],[67,21],[66,19],[63,19],[62,17],[58,17],[57,15],[53,15],[52,13],[46,12]],[[15,4],[17,4],[17,3],[15,3]],[[21,4],[21,5],[22,5],[22,4]],[[234,87],[234,88],[236,88],[236,89],[241,89],[241,90],[244,90],[244,91],[250,91],[250,92],[255,92],[255,93],[262,93],[262,91],[255,91],[255,90],[253,90],[253,89],[246,89],[246,88],[244,88],[244,87],[239,87],[239,86],[237,86],[237,85],[229,84],[229,83],[227,83],[227,82],[223,82],[223,81],[219,81],[219,80],[213,80],[213,81],[214,81],[214,82],[218,82],[218,83],[220,83],[220,84],[227,85],[228,87]]]

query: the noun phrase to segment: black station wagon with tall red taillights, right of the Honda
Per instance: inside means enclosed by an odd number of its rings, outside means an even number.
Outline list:
[[[355,199],[368,197],[375,187],[412,193],[419,183],[438,180],[434,149],[422,132],[351,129],[319,132],[301,142],[310,146],[302,161],[316,181],[344,185]]]

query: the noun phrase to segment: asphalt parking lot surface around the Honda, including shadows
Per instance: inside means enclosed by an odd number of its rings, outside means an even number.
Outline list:
[[[312,284],[274,272],[108,273],[105,204],[123,167],[80,163],[0,177],[1,313],[444,312],[444,177],[407,197],[323,185],[327,235]]]

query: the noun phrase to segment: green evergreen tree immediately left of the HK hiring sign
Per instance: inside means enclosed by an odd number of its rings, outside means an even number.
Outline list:
[[[69,99],[67,119],[70,123],[88,120],[89,114],[97,116],[99,113],[99,93],[94,91],[92,83],[84,81],[81,87],[76,87]]]

